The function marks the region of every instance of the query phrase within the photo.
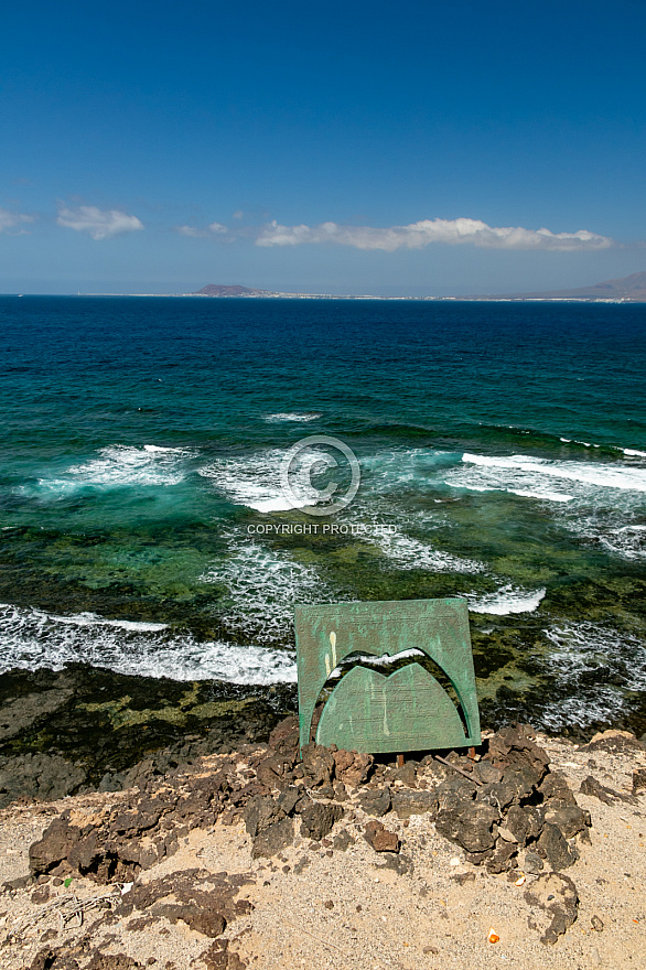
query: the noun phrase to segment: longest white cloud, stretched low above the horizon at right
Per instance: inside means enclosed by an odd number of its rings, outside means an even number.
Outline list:
[[[321,223],[320,226],[281,226],[276,220],[265,226],[257,246],[301,246],[305,242],[336,242],[355,249],[422,249],[431,242],[455,246],[471,242],[486,249],[553,249],[567,252],[575,249],[607,249],[614,242],[607,236],[597,236],[588,229],[577,233],[551,233],[549,229],[524,229],[521,226],[487,226],[480,219],[421,219],[408,226],[340,226]]]

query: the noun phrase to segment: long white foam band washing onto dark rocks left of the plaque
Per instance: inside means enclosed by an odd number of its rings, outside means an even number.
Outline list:
[[[104,619],[91,613],[56,616],[0,605],[0,672],[60,670],[66,664],[84,662],[118,673],[173,680],[247,685],[297,680],[292,650],[200,643],[191,634],[166,633],[164,624]]]

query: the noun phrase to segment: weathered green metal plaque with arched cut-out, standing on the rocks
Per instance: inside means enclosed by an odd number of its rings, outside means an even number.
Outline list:
[[[373,754],[469,747],[481,743],[465,600],[403,600],[297,606],[301,747],[332,671],[349,655],[353,667],[325,701],[319,744]],[[360,657],[392,658],[421,650],[450,680],[460,709],[439,680],[412,660],[390,676]]]

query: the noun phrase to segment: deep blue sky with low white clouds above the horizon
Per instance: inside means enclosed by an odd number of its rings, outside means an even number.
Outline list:
[[[3,4],[0,292],[646,270],[643,0]]]

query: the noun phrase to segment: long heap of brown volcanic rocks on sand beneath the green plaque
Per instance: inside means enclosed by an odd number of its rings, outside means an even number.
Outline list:
[[[89,821],[75,820],[69,809],[54,819],[30,849],[32,873],[129,880],[172,854],[190,829],[213,826],[220,815],[244,819],[254,858],[272,856],[291,844],[297,824],[301,836],[321,841],[351,805],[373,819],[389,811],[400,819],[428,815],[470,862],[493,873],[513,869],[523,850],[529,869],[560,871],[575,861],[573,840],[584,839],[591,824],[531,731],[519,726],[495,734],[478,761],[453,752],[394,769],[370,755],[317,744],[299,759],[298,724],[289,718],[267,751],[243,759],[241,776],[240,762],[230,758],[214,774],[176,772],[161,784],[153,775],[141,785]],[[376,831],[369,840],[388,841]]]

